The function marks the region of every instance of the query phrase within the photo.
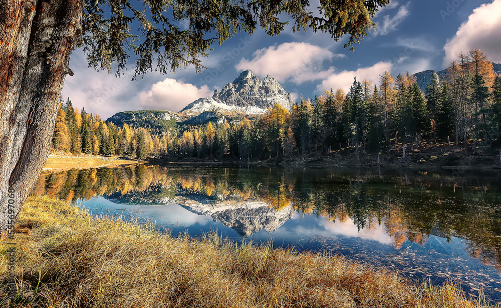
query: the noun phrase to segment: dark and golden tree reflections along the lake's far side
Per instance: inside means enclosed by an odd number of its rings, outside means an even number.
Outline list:
[[[359,231],[384,226],[397,249],[407,240],[424,245],[429,235],[462,238],[472,257],[499,271],[500,183],[497,173],[457,176],[447,170],[139,165],[43,172],[32,194],[72,201],[104,196],[144,205],[261,202],[279,212],[292,207],[331,222],[351,220]],[[240,230],[245,236],[252,232]]]

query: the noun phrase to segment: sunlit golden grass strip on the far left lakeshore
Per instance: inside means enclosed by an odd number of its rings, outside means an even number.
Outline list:
[[[68,170],[71,168],[88,169],[137,163],[139,163],[139,161],[125,160],[113,156],[56,156],[47,158],[44,170]]]

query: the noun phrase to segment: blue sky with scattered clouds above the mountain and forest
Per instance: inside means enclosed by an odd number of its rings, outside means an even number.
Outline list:
[[[438,71],[472,48],[501,63],[501,0],[390,0],[373,21],[377,28],[354,45],[354,53],[343,48],[348,37],[335,42],[328,34],[293,33],[290,27],[269,37],[258,29],[252,36],[240,33],[221,46],[214,44],[202,60],[207,69],[201,73],[190,67],[168,75],[150,72],[137,81],[131,81],[134,55],[125,75],[116,78],[88,68],[84,53],[75,50],[70,58],[74,76],[66,77],[62,96],[104,120],[129,110],[179,112],[198,98],[212,96],[247,69],[261,79],[275,77],[298,99],[330,89],[348,92],[354,77],[375,85],[384,71],[394,77]]]

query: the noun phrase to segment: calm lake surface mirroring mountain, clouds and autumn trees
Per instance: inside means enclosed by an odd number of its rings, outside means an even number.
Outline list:
[[[44,172],[32,192],[173,235],[342,254],[501,301],[501,174],[360,168],[127,166]]]

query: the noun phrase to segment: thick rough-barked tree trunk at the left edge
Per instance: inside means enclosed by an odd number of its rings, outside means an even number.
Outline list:
[[[47,161],[82,7],[0,0],[0,232],[8,228],[8,190],[17,220]]]

